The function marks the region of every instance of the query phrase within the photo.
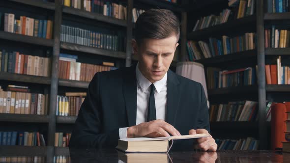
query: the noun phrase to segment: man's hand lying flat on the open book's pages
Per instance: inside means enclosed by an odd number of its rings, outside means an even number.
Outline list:
[[[180,133],[169,123],[158,119],[150,122],[140,123],[127,129],[127,137],[162,137],[180,136]]]

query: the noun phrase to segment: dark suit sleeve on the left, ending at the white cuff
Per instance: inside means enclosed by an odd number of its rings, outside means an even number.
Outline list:
[[[87,97],[79,111],[71,135],[71,147],[115,147],[119,139],[119,129],[102,132],[102,104],[100,100],[99,73],[90,81]]]

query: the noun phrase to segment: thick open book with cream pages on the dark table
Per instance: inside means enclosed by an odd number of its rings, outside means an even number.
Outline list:
[[[118,140],[117,149],[124,152],[160,152],[167,153],[170,151],[173,140],[209,137],[206,134],[168,136],[168,137],[134,137],[123,138]]]

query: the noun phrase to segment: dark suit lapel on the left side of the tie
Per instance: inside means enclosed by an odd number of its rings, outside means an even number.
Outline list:
[[[135,66],[131,66],[122,84],[123,95],[125,99],[128,124],[129,126],[136,125],[137,114],[137,82]]]

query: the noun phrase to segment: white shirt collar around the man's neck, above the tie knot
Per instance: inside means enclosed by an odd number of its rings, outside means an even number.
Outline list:
[[[141,73],[139,69],[139,62],[136,66],[136,78],[138,81],[139,86],[141,87],[142,91],[145,92],[151,85],[151,82],[148,81],[144,75]],[[164,75],[164,77],[160,81],[153,82],[155,89],[158,93],[160,93],[161,89],[166,85],[167,82],[167,72]]]

